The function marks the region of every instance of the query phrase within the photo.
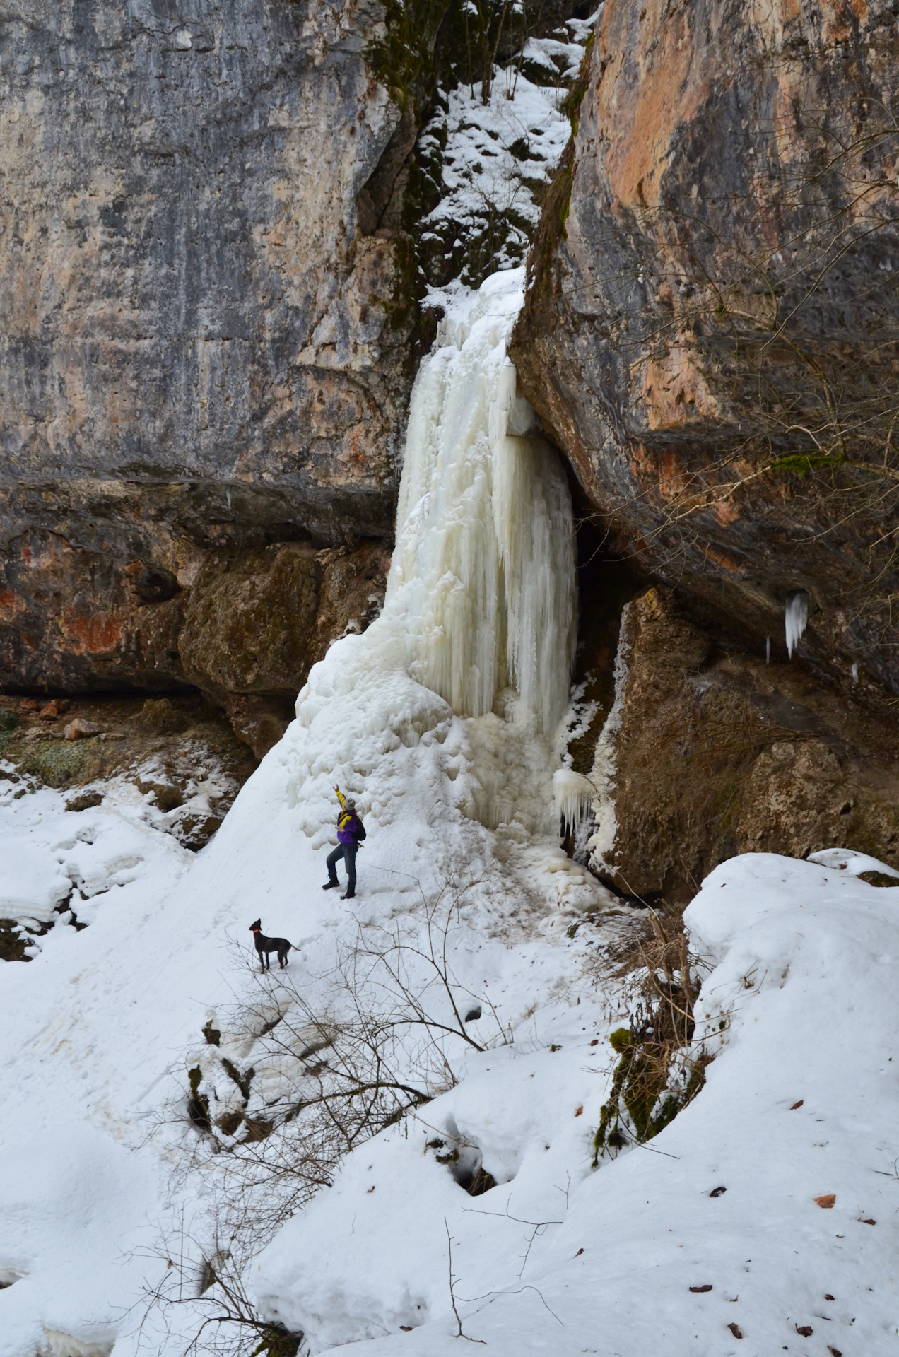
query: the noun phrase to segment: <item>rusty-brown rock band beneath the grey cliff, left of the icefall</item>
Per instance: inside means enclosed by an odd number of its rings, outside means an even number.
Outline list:
[[[30,531],[5,555],[0,664],[16,691],[198,688],[261,757],[310,666],[384,598],[382,543],[197,552],[181,570]],[[190,569],[187,569],[190,567]]]

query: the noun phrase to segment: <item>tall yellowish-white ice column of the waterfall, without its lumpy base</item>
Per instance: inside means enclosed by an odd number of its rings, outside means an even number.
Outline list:
[[[576,632],[568,482],[507,354],[521,270],[444,322],[409,411],[387,605],[410,670],[459,715],[515,688],[545,731],[568,706]]]

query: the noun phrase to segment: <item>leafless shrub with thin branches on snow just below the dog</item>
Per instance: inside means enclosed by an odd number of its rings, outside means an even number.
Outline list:
[[[163,1273],[147,1292],[148,1312],[193,1333],[186,1352],[295,1357],[301,1335],[263,1320],[247,1295],[250,1259],[349,1151],[454,1087],[466,1050],[512,1039],[454,970],[474,885],[448,879],[392,925],[360,924],[319,976],[259,973],[247,957],[249,993],[206,1020],[189,1092],[164,1120],[190,1128],[175,1172],[204,1175],[210,1204],[152,1251]],[[493,1019],[488,1041],[466,1025],[475,1010]]]

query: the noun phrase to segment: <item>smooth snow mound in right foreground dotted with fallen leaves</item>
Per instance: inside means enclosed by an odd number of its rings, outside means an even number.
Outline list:
[[[697,1041],[718,1054],[650,1145],[588,1171],[602,1080],[568,1010],[561,1052],[477,1057],[428,1126],[352,1155],[258,1261],[263,1307],[314,1352],[384,1331],[372,1357],[458,1352],[451,1238],[463,1331],[507,1357],[898,1352],[899,900],[743,856],[687,923],[714,962]],[[425,1151],[447,1126],[497,1187],[467,1198]]]

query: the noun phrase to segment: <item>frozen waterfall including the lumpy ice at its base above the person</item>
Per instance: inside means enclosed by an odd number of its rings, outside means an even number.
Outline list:
[[[382,759],[395,744],[417,748],[437,727],[445,740],[455,714],[454,805],[490,829],[516,820],[555,836],[574,529],[561,460],[516,394],[507,353],[523,284],[521,269],[494,274],[441,322],[413,389],[383,612],[312,666],[296,715],[327,730],[327,760],[361,792],[376,767],[387,779]],[[297,765],[295,803],[319,767]]]

